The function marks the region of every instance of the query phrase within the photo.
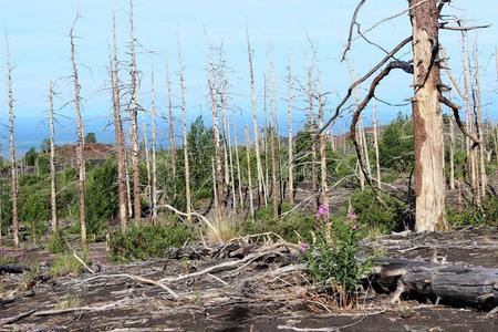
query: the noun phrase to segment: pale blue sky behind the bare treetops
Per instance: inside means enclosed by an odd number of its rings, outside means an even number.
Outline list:
[[[8,31],[12,61],[14,64],[13,85],[15,95],[17,141],[20,152],[29,146],[39,146],[48,136],[43,123],[46,117],[46,90],[49,80],[58,81],[56,106],[71,101],[72,85],[66,80],[71,74],[69,29],[76,14],[81,19],[76,25],[77,53],[81,71],[82,94],[85,98],[84,117],[86,132],[97,132],[104,141],[112,141],[112,132],[106,127],[111,120],[111,103],[107,85],[107,44],[112,9],[116,10],[120,55],[127,59],[127,0],[1,0],[0,27]],[[239,111],[230,115],[239,127],[250,121],[248,65],[245,29],[249,28],[252,46],[256,50],[256,70],[259,94],[262,94],[262,74],[267,70],[268,45],[273,45],[277,90],[284,96],[284,69],[287,54],[292,54],[292,66],[298,77],[303,77],[310,58],[310,43],[307,34],[318,46],[318,58],[322,74],[322,90],[330,91],[329,108],[338,103],[350,82],[346,63],[340,62],[344,46],[349,20],[356,1],[339,0],[135,0],[136,37],[138,65],[143,75],[142,102],[149,105],[151,69],[156,71],[157,103],[160,112],[165,108],[165,59],[168,59],[174,75],[174,90],[177,94],[176,35],[183,44],[186,65],[187,98],[189,118],[199,113],[209,118],[206,87],[206,29],[214,44],[224,44],[225,58],[230,68],[230,103]],[[397,13],[406,8],[404,0],[369,0],[360,14],[362,27],[366,29],[376,21]],[[495,61],[490,56],[497,45],[498,3],[487,0],[454,0],[446,13],[456,14],[471,24],[492,24],[479,31],[480,64],[483,75],[485,112],[495,121],[496,89],[498,87]],[[403,15],[378,27],[369,37],[386,49],[409,34],[409,20]],[[470,33],[474,41],[475,33]],[[460,35],[457,32],[442,32],[442,42],[448,49],[450,64],[455,74],[460,72]],[[408,49],[406,49],[408,51]],[[4,77],[4,43],[0,44],[0,69]],[[357,41],[350,53],[357,74],[382,58],[375,48]],[[409,54],[408,54],[409,56]],[[407,59],[407,56],[405,56]],[[124,76],[123,76],[124,79]],[[383,83],[378,96],[393,103],[409,97],[411,77],[393,74]],[[365,86],[363,87],[365,89]],[[298,101],[301,97],[297,97]],[[262,100],[259,98],[262,112]],[[381,121],[388,122],[398,111],[407,107],[378,105]],[[299,103],[297,108],[300,108]],[[286,123],[287,105],[279,101],[281,122]],[[74,141],[71,118],[74,111],[66,106],[59,111],[61,124],[58,127],[60,143]],[[69,120],[68,120],[69,117]],[[303,112],[295,111],[295,128],[302,124]],[[365,114],[369,123],[370,113]],[[0,83],[0,121],[7,120],[7,91],[4,79]],[[343,131],[347,118],[338,124]],[[282,125],[283,126],[283,125]],[[166,123],[159,122],[166,135]],[[4,136],[4,135],[3,135]]]

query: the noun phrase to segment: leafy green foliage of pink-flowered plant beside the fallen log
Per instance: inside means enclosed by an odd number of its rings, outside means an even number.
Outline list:
[[[340,307],[352,304],[360,279],[373,267],[374,257],[360,258],[360,240],[357,229],[333,218],[304,252],[310,279]]]

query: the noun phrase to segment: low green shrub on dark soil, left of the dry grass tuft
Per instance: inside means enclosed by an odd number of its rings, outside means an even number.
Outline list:
[[[111,235],[108,242],[111,260],[126,262],[163,257],[168,248],[180,247],[189,236],[183,225],[131,227],[125,235],[116,231]]]

